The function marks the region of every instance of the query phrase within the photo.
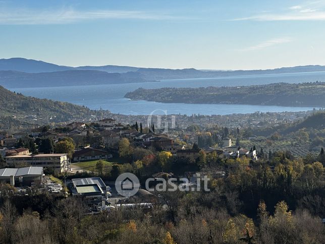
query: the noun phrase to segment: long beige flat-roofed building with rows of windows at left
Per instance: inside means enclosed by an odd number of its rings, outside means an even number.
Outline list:
[[[57,172],[64,172],[67,161],[67,154],[30,154],[6,157],[6,162],[10,166],[27,164]]]

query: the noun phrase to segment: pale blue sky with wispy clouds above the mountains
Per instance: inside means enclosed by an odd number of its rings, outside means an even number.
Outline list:
[[[325,0],[0,0],[0,58],[214,70],[325,65]]]

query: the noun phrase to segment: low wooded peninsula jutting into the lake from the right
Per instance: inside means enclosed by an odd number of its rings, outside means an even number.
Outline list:
[[[324,107],[325,82],[237,87],[138,88],[128,92],[125,97],[161,103]]]

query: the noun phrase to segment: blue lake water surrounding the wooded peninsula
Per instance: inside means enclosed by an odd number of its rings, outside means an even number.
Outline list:
[[[227,105],[227,104],[165,104],[147,101],[131,101],[124,95],[139,87],[207,87],[207,86],[241,86],[261,85],[277,82],[302,83],[325,81],[325,72],[305,72],[270,75],[229,76],[218,78],[200,79],[175,79],[161,80],[160,82],[87,85],[87,86],[59,86],[39,88],[11,88],[10,90],[21,92],[24,95],[39,98],[52,99],[84,105],[90,109],[106,109],[112,113],[147,115],[155,110],[167,111],[168,114],[202,114],[202,115],[226,115],[237,113],[259,112],[284,112],[307,111],[312,107],[282,107],[260,105]],[[317,109],[317,108],[316,108]],[[155,114],[158,114],[156,111]],[[163,112],[160,112],[160,114]]]

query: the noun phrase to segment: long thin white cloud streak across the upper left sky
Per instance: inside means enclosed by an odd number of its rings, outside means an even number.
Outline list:
[[[0,9],[0,25],[70,24],[100,19],[184,20],[168,14],[141,11]]]

